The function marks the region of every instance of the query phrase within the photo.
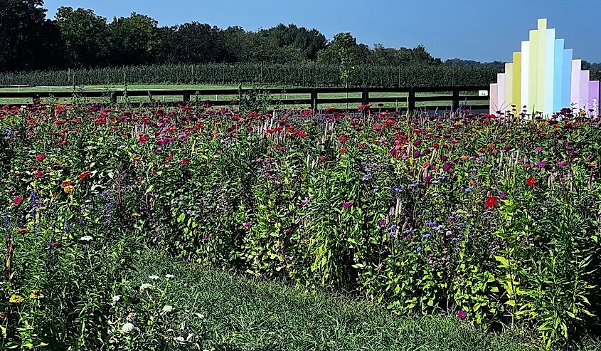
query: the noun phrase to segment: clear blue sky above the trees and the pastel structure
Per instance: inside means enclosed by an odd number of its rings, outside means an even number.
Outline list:
[[[131,12],[159,26],[198,21],[247,30],[295,23],[329,39],[349,31],[373,47],[422,44],[432,56],[511,61],[536,20],[548,19],[575,58],[601,62],[601,0],[45,0],[48,17],[60,6],[94,9],[109,21]]]

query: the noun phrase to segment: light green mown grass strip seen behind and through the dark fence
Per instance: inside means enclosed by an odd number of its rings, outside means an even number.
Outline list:
[[[205,89],[237,89],[238,85],[128,85],[127,90],[205,90]],[[252,85],[244,85],[243,88],[254,88]],[[286,88],[282,86],[275,85],[267,85],[261,88]],[[110,90],[123,90],[123,86],[119,85],[87,85],[83,87],[75,87],[75,91],[110,91]],[[61,87],[49,87],[49,86],[37,86],[37,87],[24,87],[24,88],[1,88],[0,92],[73,92],[74,88],[71,86],[61,86]],[[370,100],[375,108],[378,104],[378,98],[398,98],[398,102],[395,103],[384,103],[383,107],[385,108],[406,108],[407,107],[407,93],[370,93]],[[449,96],[450,93],[416,93],[416,96]],[[309,99],[309,94],[274,94],[272,98],[275,100],[289,100],[289,99]],[[361,98],[361,93],[321,93],[319,94],[319,98]],[[153,95],[153,99],[157,102],[176,102],[181,101],[180,96],[164,96],[164,95]],[[192,97],[193,100],[196,100],[196,97]],[[238,95],[198,95],[198,100],[235,100],[238,99]],[[55,101],[51,98],[43,98],[43,103],[51,103]],[[88,98],[87,102],[89,103],[107,103],[109,101],[108,95],[107,98]],[[132,103],[145,103],[149,102],[150,99],[147,97],[131,97],[129,101]],[[58,102],[70,102],[70,99],[59,99]],[[118,98],[118,103],[124,103],[124,98]],[[0,104],[26,104],[31,103],[29,99],[23,98],[0,98]],[[465,103],[465,102],[464,102]],[[462,103],[462,104],[464,104]],[[418,102],[416,105],[418,107],[423,107],[427,105],[439,105],[439,106],[450,106],[450,100],[441,99],[440,101],[435,102]],[[477,101],[467,101],[465,103],[467,105],[477,105],[482,104],[482,102]],[[358,103],[348,105],[346,104],[320,104],[320,108],[326,107],[335,107],[335,108],[353,108],[354,105],[359,105]],[[307,108],[307,105],[281,105],[282,108]]]

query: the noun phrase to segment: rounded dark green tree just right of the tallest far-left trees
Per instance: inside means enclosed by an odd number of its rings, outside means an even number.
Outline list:
[[[69,66],[102,66],[107,63],[110,41],[107,19],[88,9],[60,7],[55,15],[65,43]]]

